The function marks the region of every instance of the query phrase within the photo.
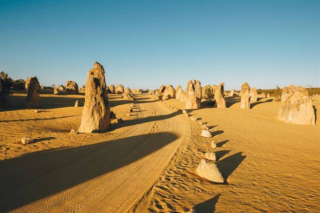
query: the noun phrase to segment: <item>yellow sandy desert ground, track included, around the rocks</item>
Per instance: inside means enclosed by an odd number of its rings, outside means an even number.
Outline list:
[[[107,133],[69,134],[81,120],[84,95],[40,94],[39,113],[23,109],[26,94],[10,96],[0,112],[0,212],[197,213],[320,212],[320,124],[276,119],[281,103],[263,98],[239,109],[193,110],[175,99],[110,94],[118,118]],[[76,100],[80,107],[73,107]],[[320,98],[313,98],[320,109]],[[320,112],[317,111],[320,118]],[[213,138],[200,136],[206,123]],[[21,144],[31,136],[36,142]],[[217,143],[226,183],[195,169]]]

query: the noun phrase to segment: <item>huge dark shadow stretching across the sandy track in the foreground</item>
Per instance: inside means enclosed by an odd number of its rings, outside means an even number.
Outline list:
[[[159,140],[162,138],[162,140]],[[0,161],[0,212],[8,212],[131,164],[177,139],[160,132]]]

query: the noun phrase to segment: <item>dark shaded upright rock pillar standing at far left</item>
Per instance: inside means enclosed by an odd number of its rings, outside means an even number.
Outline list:
[[[34,109],[40,107],[40,84],[36,77],[31,77],[26,81],[26,90],[28,91],[26,108]]]

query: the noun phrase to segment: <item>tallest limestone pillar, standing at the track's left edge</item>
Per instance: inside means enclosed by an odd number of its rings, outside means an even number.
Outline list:
[[[79,132],[104,132],[110,124],[110,104],[105,84],[104,69],[95,62],[86,82],[85,104]]]

